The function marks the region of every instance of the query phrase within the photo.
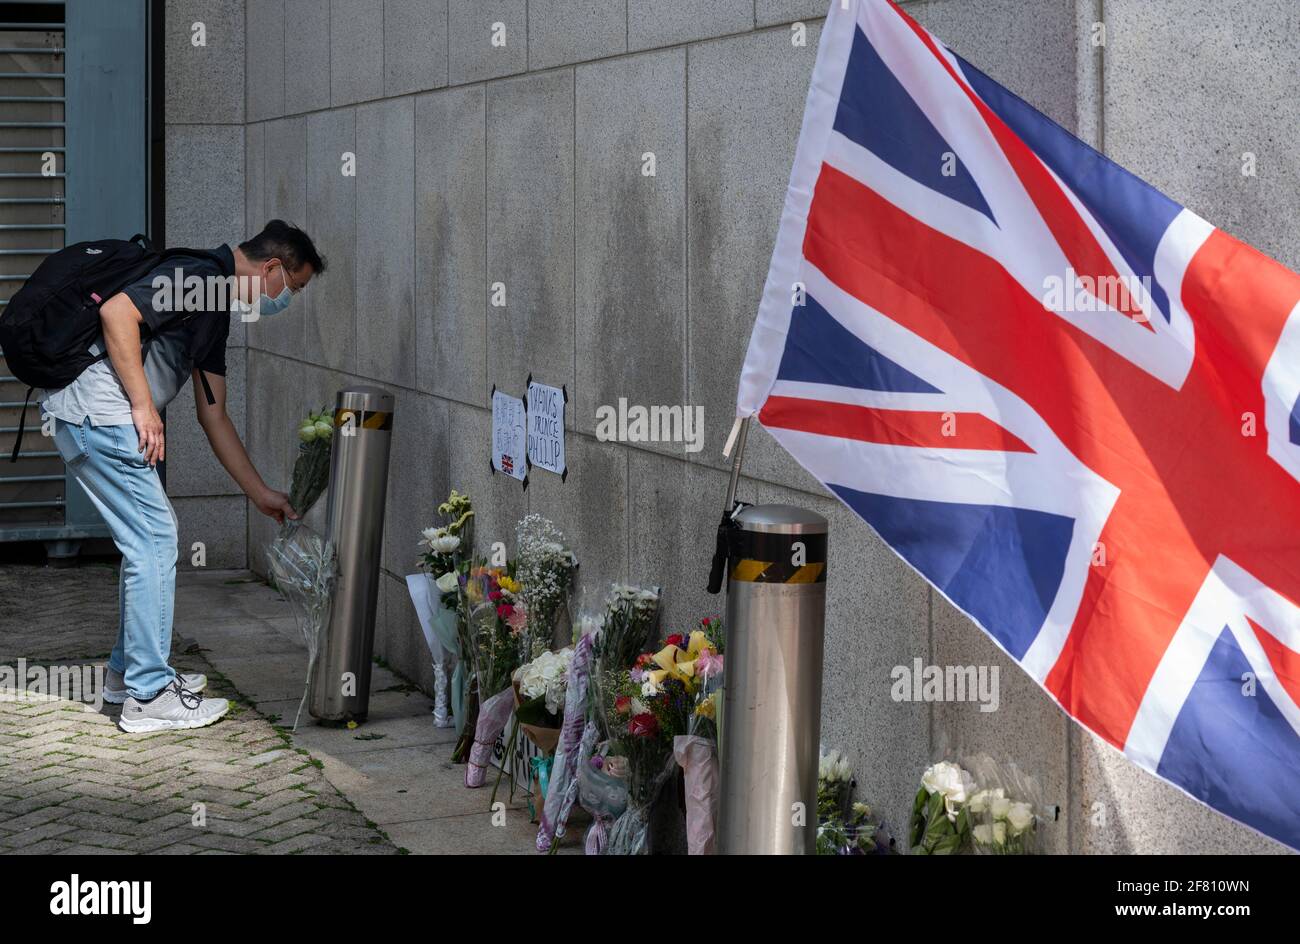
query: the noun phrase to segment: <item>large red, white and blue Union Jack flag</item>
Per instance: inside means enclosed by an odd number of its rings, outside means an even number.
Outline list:
[[[1300,848],[1300,276],[833,0],[737,407],[1075,720]]]

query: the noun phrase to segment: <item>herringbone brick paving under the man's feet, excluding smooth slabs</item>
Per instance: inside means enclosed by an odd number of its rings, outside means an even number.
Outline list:
[[[322,762],[185,635],[183,596],[173,664],[207,674],[230,714],[195,731],[127,735],[113,705],[0,694],[0,853],[395,854]],[[116,566],[0,564],[0,666],[101,664],[116,625]]]

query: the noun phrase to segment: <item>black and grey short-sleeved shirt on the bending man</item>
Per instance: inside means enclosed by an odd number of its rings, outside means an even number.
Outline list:
[[[195,368],[226,374],[235,257],[229,246],[212,256],[176,256],[122,289],[144,319],[144,376],[161,408]]]

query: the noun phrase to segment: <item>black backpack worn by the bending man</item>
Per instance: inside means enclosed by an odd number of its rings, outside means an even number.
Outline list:
[[[160,252],[139,234],[74,243],[46,256],[9,299],[0,315],[0,350],[9,373],[27,385],[10,460],[18,458],[32,389],[65,387],[108,356],[91,352],[103,330],[100,304],[172,256],[212,254],[185,248]]]

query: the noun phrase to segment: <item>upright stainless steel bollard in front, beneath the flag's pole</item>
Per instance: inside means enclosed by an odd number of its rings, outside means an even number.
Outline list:
[[[727,562],[719,852],[814,854],[827,521],[741,511]]]

